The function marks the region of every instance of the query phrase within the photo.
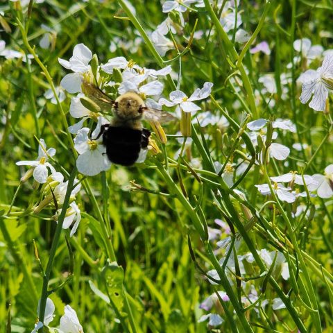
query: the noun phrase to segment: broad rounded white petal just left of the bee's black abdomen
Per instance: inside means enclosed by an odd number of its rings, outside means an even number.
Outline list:
[[[96,176],[101,171],[108,170],[110,165],[108,158],[102,155],[97,149],[94,151],[85,151],[76,160],[78,171],[85,176]]]

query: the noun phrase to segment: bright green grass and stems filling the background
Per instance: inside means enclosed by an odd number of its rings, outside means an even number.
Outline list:
[[[167,18],[162,4],[132,3],[135,14],[123,0],[49,0],[35,3],[30,11],[19,2],[0,5],[6,47],[33,54],[28,62],[0,57],[1,332],[31,332],[38,300],[43,304],[47,291],[53,291],[49,297],[56,306],[50,327],[58,327],[69,304],[85,332],[331,332],[332,198],[308,192],[289,204],[278,198],[274,184],[271,196],[262,196],[255,185],[289,171],[323,174],[333,162],[332,96],[327,110],[316,112],[300,103],[301,87],[296,83],[307,69],[320,67],[323,56],[309,66],[304,57],[293,62],[299,56],[293,41],[299,38],[332,49],[332,0],[241,1],[240,28],[253,36],[248,44],[234,42],[236,30],[225,33],[210,1],[202,8],[189,5],[192,10],[184,13],[183,30],[178,15],[169,14],[177,32],[166,37],[178,50],[165,56],[157,53],[149,37]],[[41,24],[51,28],[53,49],[39,46],[46,32]],[[195,31],[203,31],[203,36],[196,38]],[[135,51],[119,42],[139,36],[142,42]],[[269,56],[249,52],[262,41],[270,46]],[[111,42],[115,51],[109,49]],[[176,88],[190,96],[205,82],[214,83],[211,96],[194,102],[202,108],[196,115],[209,110],[226,117],[229,126],[200,127],[192,117],[192,125],[182,123],[182,128],[191,131],[193,141],[182,145],[177,139],[183,114],[181,120],[163,124],[167,144],[153,133],[160,152],[148,153],[143,164],[113,164],[97,176],[83,176],[76,170],[78,153],[67,130],[78,121],[69,114],[74,95],[66,93],[65,101],[56,104],[44,97],[71,72],[58,58],[69,60],[80,43],[97,55],[100,65],[117,56],[151,69],[171,65],[171,76],[160,78],[166,99]],[[260,82],[265,74],[276,85],[273,93],[265,92]],[[281,74],[290,78],[287,84]],[[120,71],[102,76],[121,80]],[[117,89],[108,89],[117,97]],[[111,110],[109,119],[110,114]],[[259,146],[253,145],[246,125],[259,118],[291,119],[296,125],[296,133],[278,129],[278,139],[273,139],[290,148],[287,160],[268,157],[271,123],[268,141],[259,139]],[[93,119],[85,126],[94,128]],[[148,122],[144,126],[152,130]],[[30,167],[15,163],[35,160],[40,138],[47,148],[56,148],[49,162],[65,180],[80,180],[76,203],[82,220],[73,237],[61,228],[65,210],[58,225],[54,219],[61,204],[55,203],[49,185],[38,185],[32,177],[20,181]],[[292,147],[297,142],[307,147],[297,151]],[[180,149],[182,157],[175,157]],[[261,152],[266,162],[255,164]],[[225,173],[216,173],[216,161],[227,168],[224,171],[244,161],[250,167],[246,173],[232,170],[235,186],[230,188]],[[51,204],[36,213],[43,191],[49,191]],[[69,201],[67,191],[63,205]],[[295,217],[301,204],[309,214]],[[215,219],[227,223],[230,233]],[[208,227],[221,230],[217,239],[208,240]],[[219,248],[216,243],[228,236],[232,246]],[[271,253],[269,265],[257,252],[263,249],[278,253]],[[253,262],[239,257],[246,254]],[[289,266],[288,280],[281,275],[282,254]],[[207,272],[213,269],[218,284],[208,281]],[[259,296],[254,305],[251,289]],[[200,309],[200,303],[217,291],[225,291],[230,300],[216,296],[210,311]],[[284,309],[273,310],[275,298],[282,299]],[[259,307],[264,300],[267,305]],[[219,314],[223,323],[210,327],[207,321],[198,322],[209,313]]]

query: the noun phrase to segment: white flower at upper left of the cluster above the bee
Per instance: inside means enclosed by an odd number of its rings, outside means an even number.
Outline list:
[[[90,60],[92,60],[92,51],[90,51],[85,44],[77,44],[74,46],[73,56],[69,61],[58,58],[60,65],[74,71],[74,73],[67,74],[60,82],[60,85],[66,89],[67,92],[71,94],[80,92],[83,74],[90,71]]]

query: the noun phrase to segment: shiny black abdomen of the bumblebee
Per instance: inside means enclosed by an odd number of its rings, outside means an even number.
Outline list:
[[[142,130],[110,126],[103,133],[103,144],[111,162],[128,167],[139,157],[142,148]]]

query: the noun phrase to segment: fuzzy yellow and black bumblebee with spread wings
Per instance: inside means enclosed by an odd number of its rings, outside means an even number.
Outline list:
[[[112,100],[99,87],[83,81],[83,92],[103,109],[113,109],[113,119],[101,126],[103,145],[110,162],[125,167],[133,165],[146,155],[151,131],[142,126],[142,120],[153,124],[176,119],[172,114],[146,107],[143,99],[135,92],[126,92]]]

